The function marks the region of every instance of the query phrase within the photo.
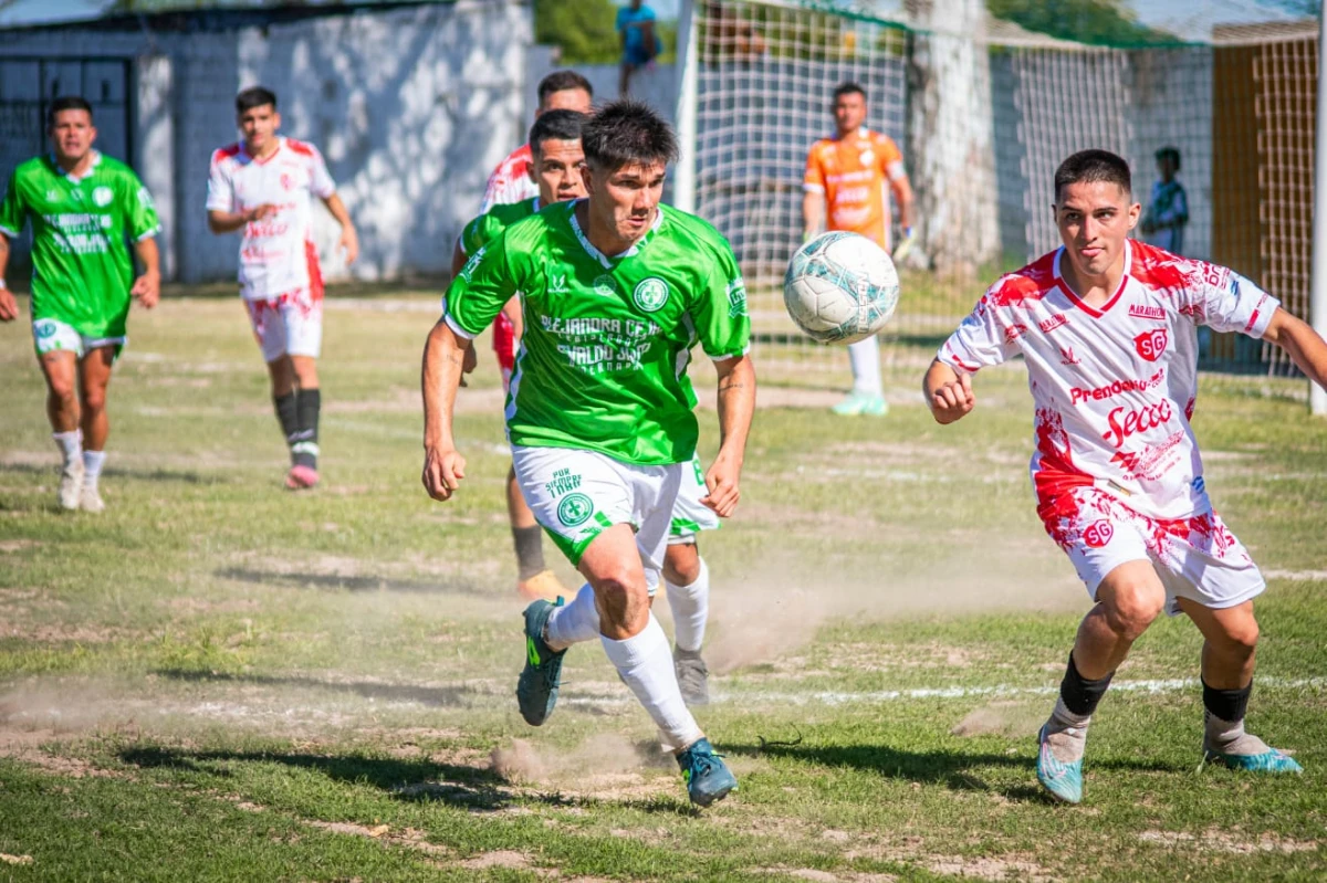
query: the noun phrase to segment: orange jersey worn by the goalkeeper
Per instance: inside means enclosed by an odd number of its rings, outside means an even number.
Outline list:
[[[853,135],[823,138],[811,147],[803,188],[824,194],[828,229],[861,233],[888,249],[889,182],[905,174],[893,138],[863,126]]]

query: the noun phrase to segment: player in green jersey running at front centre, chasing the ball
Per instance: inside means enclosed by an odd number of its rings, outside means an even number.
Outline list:
[[[738,504],[755,406],[746,290],[714,228],[660,206],[677,139],[653,110],[609,105],[585,125],[583,146],[588,199],[507,228],[447,292],[425,350],[423,483],[447,500],[464,477],[451,427],[464,349],[522,292],[525,335],[507,408],[512,460],[535,517],[598,607],[594,618],[575,615],[585,605],[527,607],[522,716],[532,725],[548,719],[567,647],[597,636],[675,750],[691,801],[706,806],[736,780],[686,708],[650,595],[695,452],[698,426],[678,371],[693,333],[719,377],[722,443],[705,476],[706,505],[726,517]]]

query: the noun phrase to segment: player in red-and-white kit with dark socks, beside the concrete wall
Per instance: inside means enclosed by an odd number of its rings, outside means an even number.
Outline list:
[[[313,244],[313,196],[341,224],[346,264],[360,240],[317,147],[277,134],[276,95],[261,86],[235,98],[243,141],[212,154],[207,178],[207,227],[243,229],[240,297],[272,379],[272,403],[285,443],[292,491],[318,483],[318,414],[322,394],[322,272]]]

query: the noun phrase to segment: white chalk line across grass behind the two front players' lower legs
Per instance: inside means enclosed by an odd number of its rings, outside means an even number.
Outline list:
[[[1327,677],[1255,677],[1257,687],[1273,689],[1322,689],[1327,687]],[[1111,683],[1112,691],[1140,693],[1173,693],[1198,687],[1197,677],[1170,677],[1165,680],[1116,680]],[[807,691],[807,692],[717,692],[714,703],[750,703],[759,705],[809,705],[819,703],[823,705],[869,705],[878,703],[902,701],[909,699],[1010,699],[1016,696],[1054,696],[1059,692],[1058,685],[1050,687],[917,687],[913,689],[880,689],[860,693],[840,691]],[[568,696],[561,700],[567,705],[622,705],[634,701],[634,697],[620,696]]]

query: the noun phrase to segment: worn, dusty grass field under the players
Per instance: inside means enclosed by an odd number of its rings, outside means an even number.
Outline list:
[[[1026,383],[985,374],[942,430],[909,370],[878,422],[763,390],[743,504],[702,544],[698,717],[742,788],[697,813],[597,646],[548,725],[516,713],[490,357],[462,391],[460,496],[419,487],[435,304],[329,304],[325,484],[299,496],[240,305],[135,312],[102,516],[56,509],[29,330],[0,327],[0,880],[1327,875],[1327,423],[1302,383],[1205,378],[1196,426],[1269,574],[1250,728],[1306,776],[1200,768],[1200,639],[1174,619],[1101,705],[1085,802],[1039,794],[1087,599],[1032,512]]]

